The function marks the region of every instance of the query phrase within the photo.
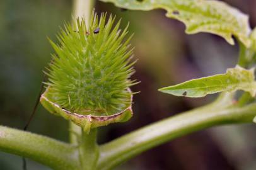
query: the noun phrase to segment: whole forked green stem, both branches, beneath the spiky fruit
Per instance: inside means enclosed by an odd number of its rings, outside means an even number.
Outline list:
[[[28,157],[52,169],[111,169],[145,150],[187,133],[214,125],[252,122],[256,115],[256,103],[240,107],[232,100],[233,93],[223,93],[212,104],[140,128],[99,148],[96,129],[89,134],[82,133],[79,145],[75,146],[0,126],[0,150]]]

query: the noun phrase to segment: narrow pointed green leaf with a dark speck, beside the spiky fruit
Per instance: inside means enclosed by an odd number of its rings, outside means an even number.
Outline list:
[[[200,98],[207,94],[222,91],[236,91],[239,89],[248,91],[252,96],[255,96],[256,82],[254,81],[254,69],[247,70],[236,65],[235,68],[228,69],[226,74],[216,74],[200,79],[192,79],[159,90],[175,96]]]

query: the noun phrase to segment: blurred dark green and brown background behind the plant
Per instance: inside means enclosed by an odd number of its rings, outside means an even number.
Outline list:
[[[256,25],[255,0],[228,0],[226,3],[250,15]],[[126,123],[100,128],[99,142],[107,142],[152,122],[212,101],[216,96],[187,99],[163,94],[158,88],[192,78],[223,73],[234,67],[238,46],[223,38],[199,33],[186,35],[185,26],[165,17],[165,11],[122,11],[112,4],[96,1],[98,13],[108,11],[130,21],[135,33],[132,45],[139,59],[132,87],[134,116]],[[0,1],[0,124],[23,128],[32,112],[42,81],[42,70],[53,52],[47,37],[64,21],[71,20],[72,1]],[[68,140],[68,123],[38,107],[28,130]],[[214,127],[168,142],[144,152],[117,169],[250,170],[256,169],[256,125]],[[22,169],[21,158],[0,152],[0,169]],[[28,170],[49,169],[28,160]]]

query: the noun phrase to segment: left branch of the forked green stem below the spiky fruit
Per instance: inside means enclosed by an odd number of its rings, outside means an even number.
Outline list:
[[[73,145],[3,126],[0,126],[0,150],[28,157],[52,169],[78,170],[80,166]]]

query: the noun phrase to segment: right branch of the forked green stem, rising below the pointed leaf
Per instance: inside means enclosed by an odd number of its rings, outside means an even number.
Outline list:
[[[231,98],[225,98],[166,118],[100,146],[98,169],[111,169],[145,150],[187,133],[214,125],[252,122],[256,115],[256,103],[240,108],[232,104]]]

